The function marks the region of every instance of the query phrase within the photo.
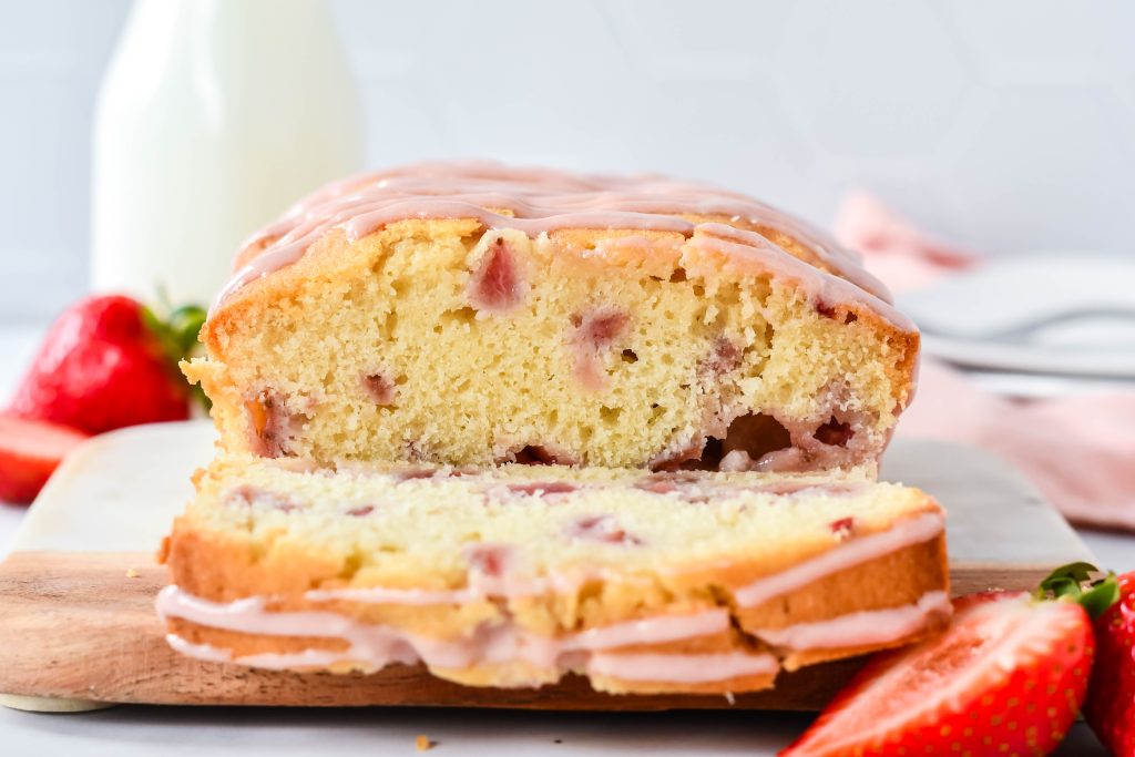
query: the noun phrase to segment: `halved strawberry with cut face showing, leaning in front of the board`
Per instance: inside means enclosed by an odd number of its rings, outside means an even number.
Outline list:
[[[1037,595],[956,599],[947,631],[874,657],[782,757],[1048,754],[1087,689],[1085,607],[1107,606],[1105,588],[1081,588],[1094,570],[1061,569]]]

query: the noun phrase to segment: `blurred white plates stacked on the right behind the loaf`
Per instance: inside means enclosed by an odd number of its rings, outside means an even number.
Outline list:
[[[1135,381],[1135,262],[994,261],[898,297],[927,354],[965,367]]]

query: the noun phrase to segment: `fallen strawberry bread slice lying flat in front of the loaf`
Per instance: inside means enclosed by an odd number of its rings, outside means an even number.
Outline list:
[[[170,644],[471,685],[738,692],[950,611],[943,513],[841,476],[218,459],[175,523]]]

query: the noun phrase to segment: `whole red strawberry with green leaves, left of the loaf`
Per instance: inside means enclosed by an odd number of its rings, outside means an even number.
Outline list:
[[[87,434],[184,420],[191,392],[177,361],[202,318],[200,309],[182,309],[166,323],[129,297],[87,297],[48,331],[10,412]]]

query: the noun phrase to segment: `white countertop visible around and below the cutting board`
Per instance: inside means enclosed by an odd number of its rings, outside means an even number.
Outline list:
[[[7,397],[42,327],[0,325],[0,397]],[[0,505],[0,555],[8,552],[24,508]],[[1078,530],[1099,562],[1135,570],[1135,537]],[[0,708],[5,755],[414,754],[414,738],[438,746],[429,754],[482,755],[774,755],[810,717],[783,713],[569,714],[427,708],[278,709],[123,706],[78,715]],[[1058,755],[1103,755],[1077,724]]]

